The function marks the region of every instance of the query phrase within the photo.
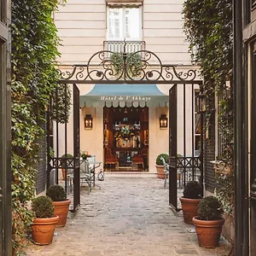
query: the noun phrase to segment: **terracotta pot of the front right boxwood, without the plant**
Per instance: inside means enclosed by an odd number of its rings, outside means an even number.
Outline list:
[[[224,224],[224,218],[218,220],[201,220],[198,216],[192,218],[199,246],[206,248],[218,247],[219,237]]]

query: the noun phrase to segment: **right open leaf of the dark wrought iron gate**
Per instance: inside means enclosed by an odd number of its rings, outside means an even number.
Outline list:
[[[199,93],[201,84],[197,85]],[[186,90],[191,90],[192,93],[187,94]],[[189,180],[203,183],[203,114],[197,113],[195,98],[195,84],[174,84],[169,90],[169,204],[176,211],[181,210],[177,205],[177,198],[182,196],[184,185]],[[188,106],[187,102],[190,102],[191,106]],[[191,109],[191,113],[188,113],[188,108]],[[177,114],[178,109],[179,114]],[[179,125],[178,129],[177,125]],[[190,127],[190,134],[187,126]],[[200,129],[197,139],[196,128]],[[179,147],[177,147],[178,142]]]

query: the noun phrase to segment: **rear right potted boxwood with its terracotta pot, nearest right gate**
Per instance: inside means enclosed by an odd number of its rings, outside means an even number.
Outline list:
[[[196,181],[189,181],[183,189],[182,204],[183,219],[185,223],[192,224],[192,218],[197,215],[198,204],[201,201],[202,187]]]

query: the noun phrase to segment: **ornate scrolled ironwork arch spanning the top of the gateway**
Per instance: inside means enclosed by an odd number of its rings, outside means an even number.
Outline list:
[[[197,71],[180,71],[176,65],[164,65],[158,55],[149,50],[131,54],[101,50],[87,64],[59,69],[60,84],[198,84]]]

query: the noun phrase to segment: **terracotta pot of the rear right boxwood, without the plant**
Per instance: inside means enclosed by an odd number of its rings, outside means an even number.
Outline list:
[[[182,203],[184,222],[188,224],[193,224],[192,218],[197,215],[198,204],[200,203],[201,198],[190,199],[190,198],[180,197],[179,200]]]

